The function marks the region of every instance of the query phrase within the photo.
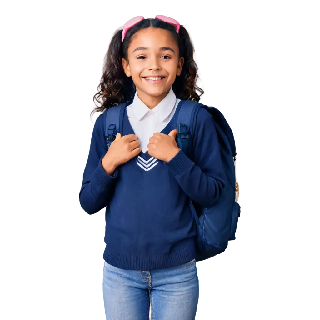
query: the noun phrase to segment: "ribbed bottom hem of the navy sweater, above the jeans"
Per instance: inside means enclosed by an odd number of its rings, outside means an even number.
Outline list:
[[[157,256],[134,256],[121,252],[113,252],[105,248],[103,260],[112,266],[124,270],[152,270],[180,266],[196,258],[195,239],[189,238],[183,247],[168,254]]]

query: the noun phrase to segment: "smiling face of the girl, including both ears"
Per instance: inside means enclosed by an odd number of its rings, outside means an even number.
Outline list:
[[[179,58],[170,31],[152,27],[139,30],[132,36],[127,56],[128,61],[122,60],[124,72],[132,77],[142,101],[160,102],[181,74],[183,58]]]

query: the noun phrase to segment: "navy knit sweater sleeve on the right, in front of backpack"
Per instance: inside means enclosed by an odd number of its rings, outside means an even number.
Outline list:
[[[196,116],[192,155],[194,162],[180,150],[165,165],[192,200],[210,208],[221,195],[227,177],[222,166],[214,120],[204,108]]]

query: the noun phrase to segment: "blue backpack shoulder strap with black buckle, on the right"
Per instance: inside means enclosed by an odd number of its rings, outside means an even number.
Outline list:
[[[191,138],[195,114],[201,107],[201,103],[190,100],[181,102],[182,103],[178,105],[177,145],[186,154]]]

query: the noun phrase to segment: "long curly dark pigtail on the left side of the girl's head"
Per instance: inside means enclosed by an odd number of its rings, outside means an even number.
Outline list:
[[[93,122],[106,109],[130,100],[133,95],[133,82],[127,77],[122,66],[124,49],[122,28],[111,35],[100,68],[100,77],[92,94],[92,108],[89,120]]]

